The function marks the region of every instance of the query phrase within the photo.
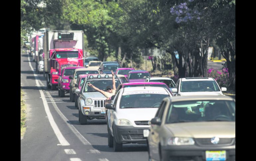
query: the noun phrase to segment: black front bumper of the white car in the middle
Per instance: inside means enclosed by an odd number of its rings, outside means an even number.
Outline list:
[[[113,126],[117,143],[147,143],[147,137],[143,136],[145,129],[149,127]]]

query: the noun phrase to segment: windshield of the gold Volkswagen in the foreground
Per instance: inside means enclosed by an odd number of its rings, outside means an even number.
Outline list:
[[[235,102],[224,100],[196,100],[173,102],[166,123],[198,121],[235,121]]]

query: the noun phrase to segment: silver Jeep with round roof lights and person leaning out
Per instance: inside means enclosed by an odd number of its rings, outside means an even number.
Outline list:
[[[115,77],[115,84],[118,86],[121,82],[116,75]],[[83,82],[81,90],[75,90],[75,92],[79,92],[77,106],[80,124],[87,124],[87,120],[105,119],[106,97],[100,92],[94,90],[92,87],[88,86],[88,83],[93,84],[100,90],[106,91],[107,86],[112,86],[112,75],[88,75]]]

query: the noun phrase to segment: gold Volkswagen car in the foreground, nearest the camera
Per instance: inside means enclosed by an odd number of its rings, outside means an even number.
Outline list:
[[[235,160],[235,100],[165,98],[151,120],[149,160]]]

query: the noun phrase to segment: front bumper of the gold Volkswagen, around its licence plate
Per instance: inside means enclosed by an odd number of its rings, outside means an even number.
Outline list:
[[[235,161],[235,145],[232,146],[161,146],[163,160],[205,161],[206,150],[226,150],[226,161]]]

